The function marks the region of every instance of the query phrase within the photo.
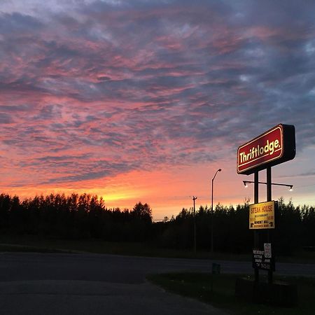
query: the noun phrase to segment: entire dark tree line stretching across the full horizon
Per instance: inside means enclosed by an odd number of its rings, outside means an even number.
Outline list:
[[[272,238],[277,253],[290,254],[315,246],[315,207],[285,204],[281,198]],[[248,202],[237,207],[217,204],[212,215],[208,207],[182,209],[170,220],[153,223],[152,209],[141,202],[129,209],[107,209],[96,195],[51,194],[26,200],[0,195],[0,233],[38,235],[64,239],[143,241],[152,246],[193,248],[194,225],[197,248],[211,249],[211,220],[215,251],[250,252],[253,230],[248,229]]]

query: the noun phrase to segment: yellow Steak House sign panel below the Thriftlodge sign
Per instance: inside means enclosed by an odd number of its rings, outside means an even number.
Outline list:
[[[249,205],[250,229],[274,229],[274,201]]]

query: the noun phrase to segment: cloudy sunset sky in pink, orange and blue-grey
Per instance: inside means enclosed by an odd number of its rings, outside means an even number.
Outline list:
[[[252,202],[237,148],[282,123],[296,156],[272,181],[293,192],[272,197],[314,205],[314,16],[312,0],[1,0],[1,193],[159,220],[211,206],[220,168],[214,204]]]

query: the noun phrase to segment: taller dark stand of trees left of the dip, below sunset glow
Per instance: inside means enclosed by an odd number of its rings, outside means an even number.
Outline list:
[[[130,211],[107,209],[102,197],[72,194],[19,197],[0,195],[0,232],[66,239],[142,241],[148,237],[152,210],[139,202]]]

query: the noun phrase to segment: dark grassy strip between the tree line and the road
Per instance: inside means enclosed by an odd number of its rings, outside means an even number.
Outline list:
[[[166,258],[199,258],[211,260],[251,261],[251,254],[210,253],[209,251],[177,250],[158,248],[152,244],[135,242],[101,241],[97,239],[69,240],[41,238],[37,236],[0,235],[0,251],[34,252],[85,252],[109,253],[116,255],[139,255]],[[277,262],[315,262],[315,252],[302,252],[290,257],[278,257]]]

